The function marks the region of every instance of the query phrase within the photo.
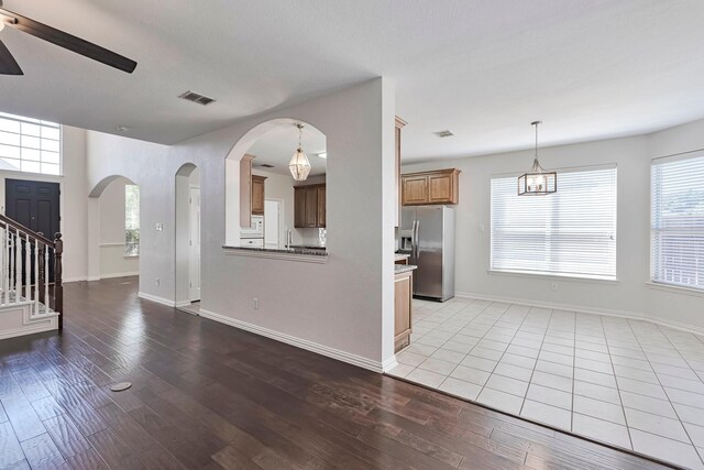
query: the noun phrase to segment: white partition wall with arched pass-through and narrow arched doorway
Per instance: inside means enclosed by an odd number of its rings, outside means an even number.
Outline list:
[[[184,163],[193,162],[202,181],[201,311],[378,370],[393,361],[394,211],[384,195],[395,190],[394,111],[393,87],[380,78],[172,147],[89,132],[89,187],[116,174],[140,185],[140,291],[173,303],[174,176]],[[226,156],[257,124],[284,118],[308,122],[327,136],[331,157],[326,264],[228,255],[222,250]],[[237,159],[229,161],[239,167]],[[237,173],[234,168],[227,175],[235,189]],[[228,217],[239,220],[239,190],[230,193],[237,194],[229,200],[233,211]],[[161,232],[154,230],[157,222],[164,225]],[[252,308],[253,297],[260,300],[257,310]]]

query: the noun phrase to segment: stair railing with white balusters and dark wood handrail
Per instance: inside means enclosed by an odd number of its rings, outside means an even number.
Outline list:
[[[0,306],[28,305],[32,317],[58,315],[63,328],[64,241],[50,240],[0,214]]]

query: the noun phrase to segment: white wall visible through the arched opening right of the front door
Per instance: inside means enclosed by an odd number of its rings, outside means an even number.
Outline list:
[[[99,198],[100,204],[100,277],[136,275],[139,256],[124,255],[124,187],[127,178],[114,179]]]

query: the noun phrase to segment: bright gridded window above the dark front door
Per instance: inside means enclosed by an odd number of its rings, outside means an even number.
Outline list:
[[[0,171],[61,175],[61,125],[0,112]]]

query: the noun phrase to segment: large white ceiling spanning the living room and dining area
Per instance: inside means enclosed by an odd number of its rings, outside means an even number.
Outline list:
[[[704,117],[698,0],[6,0],[139,62],[10,28],[0,110],[175,143],[363,79],[396,84],[405,161],[646,133]],[[218,99],[176,99],[193,89]],[[450,129],[455,136],[438,139]]]

